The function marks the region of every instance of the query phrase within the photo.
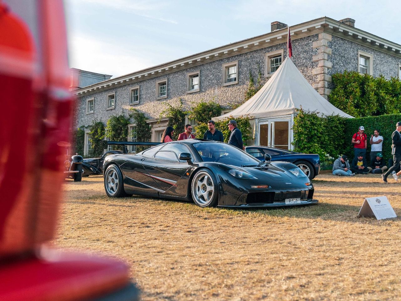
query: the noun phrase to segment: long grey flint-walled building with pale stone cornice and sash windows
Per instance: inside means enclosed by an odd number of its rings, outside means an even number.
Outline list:
[[[354,23],[350,18],[322,17],[290,26],[292,61],[325,98],[332,88],[331,75],[344,70],[383,74],[387,79],[400,76],[401,45],[355,28]],[[201,100],[214,100],[227,108],[222,114],[229,112],[244,100],[249,71],[256,78],[260,69],[265,82],[284,61],[287,33],[286,24],[272,22],[270,33],[77,89],[74,127],[128,116],[134,107],[149,118],[152,141],[160,141],[167,118],[159,122],[159,115],[166,102],[174,106],[181,99],[190,108]],[[129,140],[134,132],[132,120]],[[86,153],[88,134],[85,141]]]

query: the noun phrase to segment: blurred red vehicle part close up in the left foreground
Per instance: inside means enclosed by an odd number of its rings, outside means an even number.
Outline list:
[[[0,300],[136,300],[124,263],[43,247],[71,127],[66,41],[61,0],[0,0]]]

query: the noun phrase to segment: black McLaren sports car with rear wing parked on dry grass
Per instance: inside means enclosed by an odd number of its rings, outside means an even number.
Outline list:
[[[284,207],[318,202],[313,199],[310,179],[299,167],[269,159],[266,154],[265,160],[259,161],[223,142],[180,140],[136,155],[107,156],[104,186],[109,197],[135,194],[193,200],[201,207]]]

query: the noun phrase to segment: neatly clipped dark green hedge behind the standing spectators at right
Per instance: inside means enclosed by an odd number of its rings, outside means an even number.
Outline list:
[[[367,152],[371,149],[369,140],[374,130],[380,131],[383,136],[383,156],[387,160],[391,157],[391,134],[395,131],[395,124],[401,121],[401,114],[371,116],[361,118],[348,118],[345,120],[344,128],[344,153],[349,157],[354,157],[354,146],[351,144],[352,135],[358,132],[360,126],[365,127],[365,133],[368,136]],[[368,157],[369,158],[369,157]]]

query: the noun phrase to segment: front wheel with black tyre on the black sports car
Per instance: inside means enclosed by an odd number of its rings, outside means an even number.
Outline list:
[[[192,178],[192,199],[200,207],[214,207],[217,204],[217,181],[209,169],[200,169]]]

